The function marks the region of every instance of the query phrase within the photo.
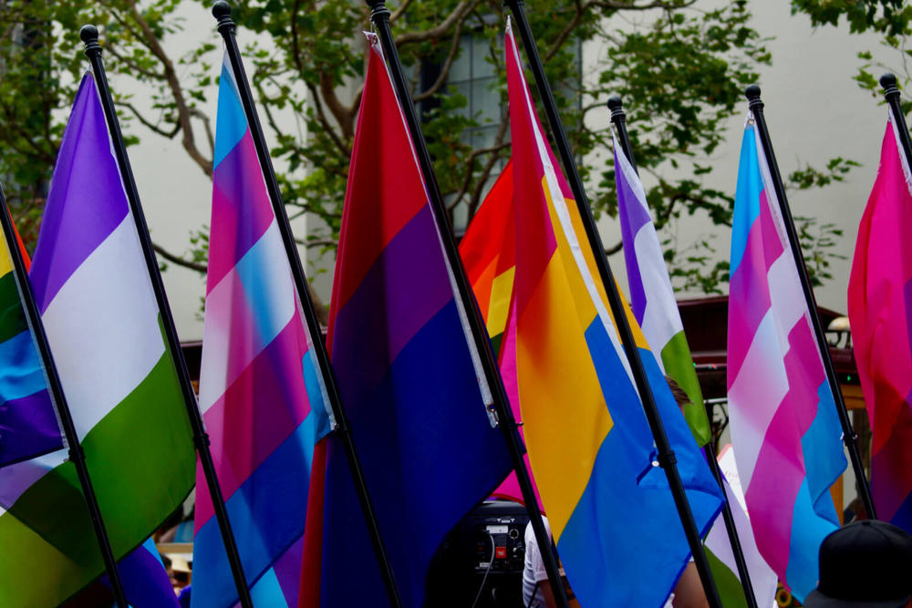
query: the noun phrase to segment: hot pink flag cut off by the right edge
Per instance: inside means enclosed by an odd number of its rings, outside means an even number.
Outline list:
[[[912,174],[890,115],[880,169],[858,226],[849,321],[874,430],[871,492],[877,515],[912,532]]]

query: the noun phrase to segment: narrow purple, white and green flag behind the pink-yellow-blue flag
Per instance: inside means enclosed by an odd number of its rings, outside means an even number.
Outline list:
[[[649,213],[646,191],[637,171],[617,145],[617,139],[614,149],[617,210],[630,285],[630,307],[653,349],[658,367],[690,398],[690,403],[684,406],[684,417],[697,444],[705,446],[712,439],[710,420],[703,406],[700,382],[693,368],[665,256]]]

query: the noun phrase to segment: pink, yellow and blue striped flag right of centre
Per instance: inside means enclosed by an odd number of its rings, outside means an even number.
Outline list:
[[[506,31],[513,139],[516,372],[526,446],[570,586],[584,606],[658,606],[689,546],[572,194]],[[626,304],[625,304],[626,305]],[[721,493],[636,320],[627,319],[698,529]],[[509,324],[508,324],[509,326]]]

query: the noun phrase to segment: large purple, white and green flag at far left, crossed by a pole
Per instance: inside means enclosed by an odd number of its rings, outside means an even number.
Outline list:
[[[91,74],[64,132],[30,279],[119,559],[192,489],[193,446]],[[66,451],[0,469],[0,513],[0,605],[56,605],[104,571]]]

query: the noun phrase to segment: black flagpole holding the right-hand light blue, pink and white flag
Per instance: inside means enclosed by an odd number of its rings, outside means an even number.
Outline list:
[[[830,347],[826,342],[824,335],[824,326],[820,323],[820,314],[817,312],[817,301],[814,298],[814,289],[811,287],[811,279],[807,275],[807,267],[804,265],[804,255],[801,251],[801,244],[798,242],[798,233],[795,232],[795,223],[792,219],[792,211],[789,208],[789,201],[785,198],[785,186],[782,183],[782,175],[779,173],[779,164],[776,162],[776,155],[772,152],[772,141],[770,140],[770,131],[766,128],[766,119],[763,118],[763,102],[760,98],[760,87],[751,85],[744,90],[744,95],[748,99],[748,108],[753,113],[754,123],[757,125],[757,134],[763,144],[763,153],[766,155],[766,163],[770,166],[770,176],[772,177],[772,188],[779,199],[779,210],[782,213],[782,223],[785,226],[785,234],[789,239],[789,246],[792,248],[792,257],[795,266],[798,269],[798,279],[801,282],[801,288],[804,293],[804,302],[807,304],[808,313],[811,317],[811,325],[814,328],[814,337],[817,339],[817,346],[820,349],[820,357],[824,360],[824,370],[826,379],[830,385],[830,392],[833,393],[833,399],[836,404],[836,412],[839,414],[839,422],[843,426],[843,442],[848,449],[849,459],[852,461],[852,469],[855,471],[855,479],[858,481],[858,488],[861,490],[861,500],[865,504],[868,518],[877,519],[877,512],[874,508],[874,500],[871,498],[871,486],[868,484],[865,476],[865,467],[862,465],[861,456],[858,454],[858,436],[852,428],[852,422],[849,421],[848,411],[845,409],[843,400],[843,391],[839,388],[839,382],[836,380],[836,372],[833,367],[833,357],[830,356]],[[889,95],[889,93],[887,93]],[[896,91],[898,103],[899,91]],[[902,114],[900,114],[902,116]],[[899,129],[903,131],[905,129]],[[906,135],[908,137],[908,134]],[[837,506],[837,508],[839,508]]]

